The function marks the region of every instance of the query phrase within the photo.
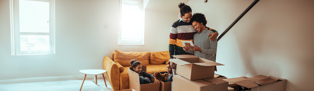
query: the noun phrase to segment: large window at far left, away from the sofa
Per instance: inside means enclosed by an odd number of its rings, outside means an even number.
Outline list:
[[[55,53],[54,0],[11,0],[12,55]]]

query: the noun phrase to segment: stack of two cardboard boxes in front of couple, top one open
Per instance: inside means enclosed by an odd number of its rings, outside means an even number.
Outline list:
[[[228,82],[214,77],[216,66],[223,65],[194,55],[174,55],[176,73],[172,91],[227,91]]]

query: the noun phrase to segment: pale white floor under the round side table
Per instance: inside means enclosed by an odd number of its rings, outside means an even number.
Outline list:
[[[93,81],[94,79],[85,80],[81,91],[113,91],[107,79],[107,87],[104,79],[97,79],[97,85]],[[0,84],[0,91],[79,91],[82,82],[83,80],[67,80]]]

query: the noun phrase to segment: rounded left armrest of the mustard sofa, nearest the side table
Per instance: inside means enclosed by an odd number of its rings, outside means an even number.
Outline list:
[[[115,62],[109,57],[104,57],[104,70],[107,71],[106,78],[114,91],[120,90],[120,71]]]

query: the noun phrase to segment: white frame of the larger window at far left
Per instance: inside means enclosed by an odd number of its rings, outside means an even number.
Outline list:
[[[49,33],[19,31],[19,0],[10,0],[11,55],[55,54],[55,0],[29,0],[49,2]],[[20,51],[20,35],[49,35],[49,50]]]

